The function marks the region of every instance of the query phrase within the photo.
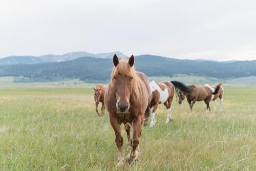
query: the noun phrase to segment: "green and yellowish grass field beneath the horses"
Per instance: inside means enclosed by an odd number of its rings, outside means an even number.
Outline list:
[[[0,88],[0,170],[256,170],[255,104],[256,87],[225,87],[223,112],[197,102],[189,114],[174,100],[168,124],[160,105],[139,161],[116,168],[114,131],[108,114],[96,115],[92,88]]]

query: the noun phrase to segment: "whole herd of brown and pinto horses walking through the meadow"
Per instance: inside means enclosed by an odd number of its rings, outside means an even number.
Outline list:
[[[140,152],[139,138],[143,122],[144,126],[146,126],[148,119],[151,117],[150,127],[156,124],[155,113],[158,105],[161,103],[167,109],[165,123],[172,120],[170,113],[175,92],[180,104],[186,97],[191,112],[196,101],[204,101],[207,105],[206,112],[210,112],[210,100],[215,101],[214,111],[216,111],[217,98],[221,100],[222,110],[224,93],[224,89],[221,86],[222,83],[210,87],[208,84],[205,84],[205,86],[196,86],[195,84],[186,86],[179,81],[149,82],[144,73],[135,71],[134,60],[132,55],[129,59],[123,58],[119,61],[115,54],[109,85],[103,86],[98,84],[94,88],[96,112],[99,116],[103,116],[106,108],[109,112],[110,123],[115,132],[115,142],[118,149],[117,166],[122,166],[124,162],[121,124],[124,124],[129,145],[132,147],[131,152],[126,156],[126,161],[128,163],[135,162],[138,160]],[[101,114],[98,112],[99,102],[102,103]],[[131,127],[133,127],[132,137]]]

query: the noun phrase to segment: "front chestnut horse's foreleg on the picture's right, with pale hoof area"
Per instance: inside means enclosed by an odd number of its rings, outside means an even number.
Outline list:
[[[137,161],[139,156],[139,137],[141,135],[141,117],[133,120],[133,138],[131,139],[131,152],[126,156],[126,161],[131,163]]]

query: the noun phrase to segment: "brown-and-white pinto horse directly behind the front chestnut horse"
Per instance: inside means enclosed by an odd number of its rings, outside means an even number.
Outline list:
[[[156,124],[155,112],[159,104],[164,104],[167,109],[167,118],[165,123],[168,123],[169,120],[172,120],[170,112],[172,111],[172,101],[174,98],[174,86],[170,81],[161,81],[155,82],[154,80],[150,82],[151,89],[151,102],[148,110],[145,112],[144,126],[147,125],[147,120],[151,115],[150,127],[153,127]]]

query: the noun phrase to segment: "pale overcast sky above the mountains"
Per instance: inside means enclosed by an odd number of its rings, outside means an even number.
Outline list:
[[[256,59],[256,1],[0,2],[0,58],[73,51]]]

